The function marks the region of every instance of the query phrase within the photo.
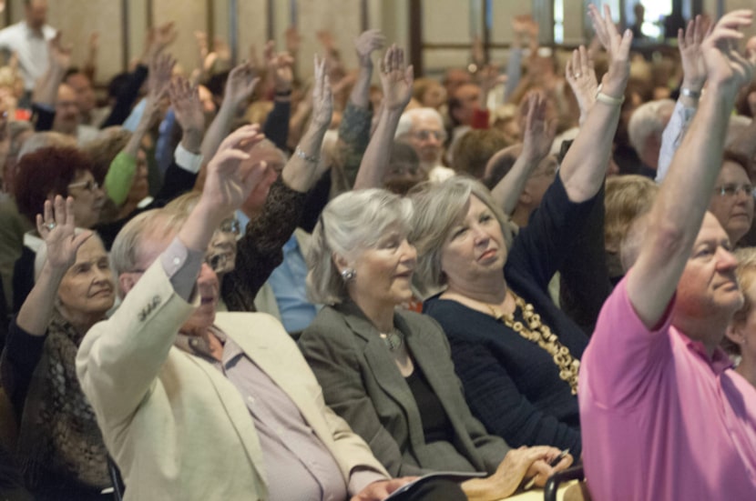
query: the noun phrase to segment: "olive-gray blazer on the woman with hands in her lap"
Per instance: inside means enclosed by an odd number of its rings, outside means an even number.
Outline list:
[[[299,344],[318,377],[325,401],[363,436],[392,476],[431,471],[493,473],[509,451],[470,413],[455,376],[449,344],[428,316],[396,310],[394,324],[441,401],[454,444],[425,444],[423,423],[410,387],[389,349],[358,306],[326,306]]]

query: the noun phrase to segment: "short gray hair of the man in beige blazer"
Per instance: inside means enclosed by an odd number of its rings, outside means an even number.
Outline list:
[[[137,215],[118,232],[110,247],[110,266],[113,273],[135,271],[141,251],[142,239],[147,235],[169,235],[179,232],[187,215],[180,211],[153,209]],[[123,291],[119,291],[122,295]]]

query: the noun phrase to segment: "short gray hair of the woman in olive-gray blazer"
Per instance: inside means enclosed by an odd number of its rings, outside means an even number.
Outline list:
[[[409,200],[378,188],[349,191],[329,202],[312,231],[312,247],[307,255],[310,300],[335,305],[347,299],[346,286],[332,256],[358,256],[377,245],[391,225],[399,224],[409,233],[411,218]]]

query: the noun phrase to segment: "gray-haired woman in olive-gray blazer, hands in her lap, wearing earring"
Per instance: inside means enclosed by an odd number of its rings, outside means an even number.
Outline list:
[[[543,482],[559,451],[512,450],[470,414],[443,331],[397,308],[412,296],[411,203],[380,189],[332,200],[315,226],[308,291],[325,306],[300,339],[326,404],[393,476],[485,471],[467,496],[498,499],[524,477]],[[567,466],[564,461],[560,466]]]

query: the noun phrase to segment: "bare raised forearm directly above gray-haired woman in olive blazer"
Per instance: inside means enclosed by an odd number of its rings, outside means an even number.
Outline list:
[[[392,45],[383,55],[381,85],[383,106],[373,137],[367,145],[354,189],[381,187],[393,150],[396,125],[412,98],[413,66],[404,64],[404,51]]]

